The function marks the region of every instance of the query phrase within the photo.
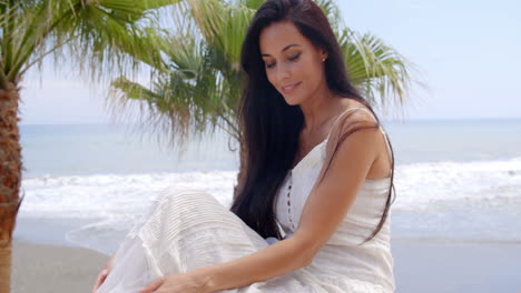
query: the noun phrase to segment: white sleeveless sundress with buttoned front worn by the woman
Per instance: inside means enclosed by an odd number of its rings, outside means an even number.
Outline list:
[[[334,124],[341,118],[345,120],[346,113],[357,110],[371,114],[365,108],[351,108]],[[333,129],[326,140],[289,170],[278,191],[274,209],[279,226],[288,236],[298,226],[304,203],[326,161],[327,141],[337,139],[338,131],[334,132],[335,137],[332,132]],[[380,222],[390,183],[390,178],[365,180],[337,231],[309,265],[265,282],[222,292],[394,292],[391,213],[381,231],[363,243]],[[128,233],[97,293],[134,293],[164,275],[232,261],[268,245],[268,240],[210,194],[168,188],[156,199],[146,221]]]

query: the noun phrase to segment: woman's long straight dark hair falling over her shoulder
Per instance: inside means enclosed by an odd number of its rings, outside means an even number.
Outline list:
[[[298,31],[328,58],[325,63],[328,89],[341,97],[371,105],[358,94],[347,79],[343,54],[336,37],[322,9],[312,0],[268,0],[253,18],[243,43],[240,63],[246,72],[243,99],[239,107],[240,141],[246,160],[244,182],[230,210],[263,238],[281,239],[275,221],[274,202],[286,173],[292,168],[304,115],[298,105],[288,105],[282,94],[269,83],[260,57],[260,31],[275,22],[291,21]],[[376,115],[374,114],[376,118]],[[376,118],[377,120],[377,118]],[[377,120],[377,125],[380,121]],[[376,125],[376,127],[377,127]],[[391,186],[393,186],[394,159]],[[383,226],[391,205],[390,188],[382,219],[371,240]]]

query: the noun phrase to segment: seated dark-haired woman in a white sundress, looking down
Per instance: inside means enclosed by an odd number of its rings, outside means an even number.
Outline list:
[[[164,191],[94,291],[393,292],[392,149],[323,11],[266,1],[242,65],[247,160],[232,212]]]

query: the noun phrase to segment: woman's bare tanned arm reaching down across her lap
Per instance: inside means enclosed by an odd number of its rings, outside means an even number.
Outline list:
[[[299,225],[291,238],[237,260],[188,272],[190,280],[205,284],[204,290],[190,292],[242,287],[309,264],[348,211],[377,156],[376,144],[381,140],[376,129],[348,135],[340,145],[328,172],[309,194]],[[151,285],[151,290],[159,286],[160,281]]]

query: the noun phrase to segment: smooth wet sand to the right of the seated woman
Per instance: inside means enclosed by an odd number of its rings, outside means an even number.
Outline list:
[[[394,240],[397,293],[521,293],[521,243]]]

